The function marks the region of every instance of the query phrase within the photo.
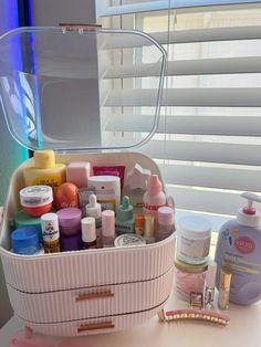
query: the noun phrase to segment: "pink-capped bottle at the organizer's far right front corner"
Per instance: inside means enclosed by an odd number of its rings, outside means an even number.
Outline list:
[[[158,209],[156,242],[167,239],[174,231],[174,209],[164,206]]]

